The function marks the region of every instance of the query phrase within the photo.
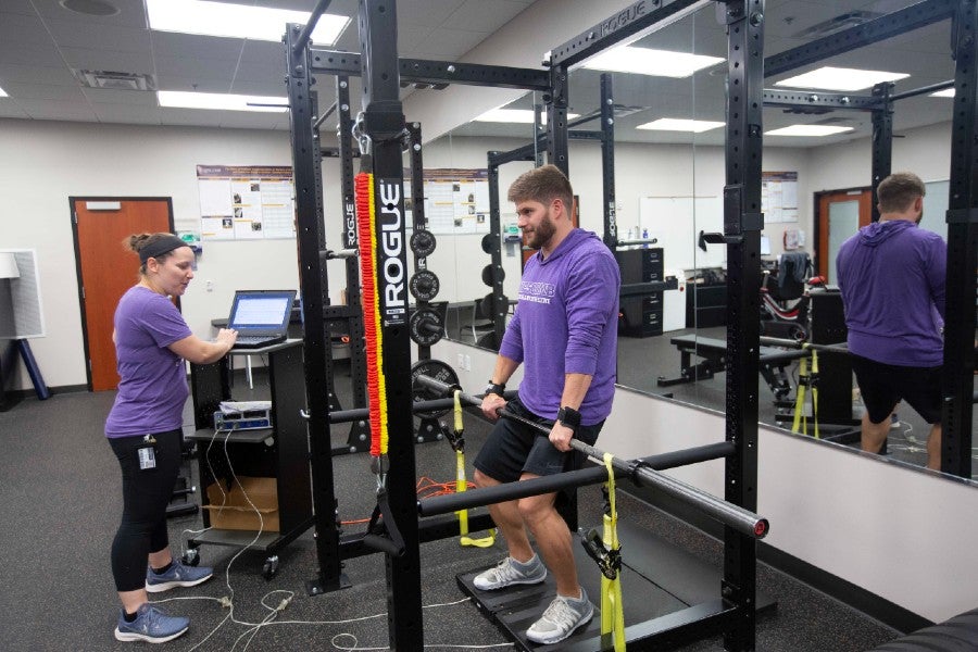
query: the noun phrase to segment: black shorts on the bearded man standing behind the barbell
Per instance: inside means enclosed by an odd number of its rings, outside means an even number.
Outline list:
[[[519,416],[537,422],[548,429],[553,422],[537,416],[523,406],[518,397],[506,403],[506,410]],[[580,426],[574,435],[589,446],[598,441],[602,421],[592,426]],[[559,451],[546,435],[518,422],[500,418],[476,455],[474,466],[490,478],[500,482],[515,482],[524,473],[548,476],[580,468],[587,455],[577,451],[563,453]]]

